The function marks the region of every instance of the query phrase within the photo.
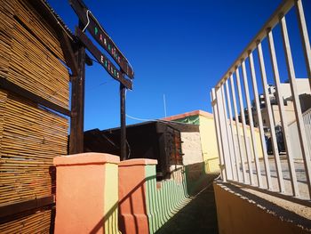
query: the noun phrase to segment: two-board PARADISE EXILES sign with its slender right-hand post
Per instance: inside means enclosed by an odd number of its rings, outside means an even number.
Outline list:
[[[134,71],[129,61],[124,57],[124,54],[119,50],[114,41],[108,36],[108,33],[100,25],[99,21],[92,15],[92,12],[86,7],[82,0],[69,0],[72,8],[79,18],[79,28],[76,28],[76,36],[84,47],[92,53],[94,58],[101,66],[108,71],[108,74],[120,83],[120,122],[121,122],[121,137],[120,151],[121,160],[126,159],[126,123],[125,123],[125,92],[126,89],[132,90],[132,79]],[[84,26],[81,27],[81,26]],[[92,37],[100,46],[105,49],[113,58],[116,64],[120,67],[117,69],[113,62],[109,61],[107,56],[100,52],[100,49],[84,34],[87,29]],[[130,79],[126,78],[129,77]],[[84,103],[83,103],[84,106]],[[83,139],[83,138],[82,138]],[[82,144],[83,145],[83,144]],[[83,146],[82,146],[83,147]]]

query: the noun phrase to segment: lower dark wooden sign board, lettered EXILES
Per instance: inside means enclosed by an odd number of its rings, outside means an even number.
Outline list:
[[[84,44],[89,52],[95,57],[95,59],[106,69],[111,77],[119,81],[128,89],[132,89],[132,81],[126,79],[121,71],[116,69],[116,66],[108,60],[108,58],[100,52],[100,50],[92,43],[92,41],[84,34],[80,28],[76,28],[76,36]]]

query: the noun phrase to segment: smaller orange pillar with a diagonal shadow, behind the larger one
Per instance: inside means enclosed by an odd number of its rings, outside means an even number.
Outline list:
[[[148,165],[152,159],[130,159],[119,164],[119,224],[123,233],[149,233]],[[156,174],[154,174],[154,180]]]

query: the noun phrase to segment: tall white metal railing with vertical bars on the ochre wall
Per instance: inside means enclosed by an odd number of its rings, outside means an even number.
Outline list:
[[[301,113],[299,91],[291,56],[290,37],[285,20],[291,8],[295,8],[299,24],[299,36],[302,42],[301,47],[306,60],[307,78],[311,88],[311,50],[301,1],[283,1],[263,28],[259,30],[257,36],[251,40],[251,43],[246,46],[232,66],[227,69],[215,88],[211,90],[211,105],[218,139],[220,172],[224,182],[247,184],[253,188],[272,191],[278,195],[289,195],[291,198],[307,198],[309,200],[311,197],[311,148],[309,148],[308,142],[311,142],[311,114],[303,117]],[[281,28],[281,40],[276,40],[273,36],[277,25]],[[265,61],[265,51],[261,45],[263,40],[267,40],[270,61]],[[299,137],[296,141],[299,141],[303,159],[302,167],[306,177],[302,185],[295,170],[301,165],[296,165],[295,150],[291,147],[289,119],[286,114],[286,106],[284,106],[279,64],[275,51],[275,44],[281,43],[280,41],[283,44],[286,69],[291,86],[294,118],[298,128]],[[254,63],[254,59],[259,61],[258,64]],[[281,154],[278,149],[275,133],[275,109],[270,103],[271,94],[268,92],[267,62],[271,63],[273,72],[276,108],[282,126],[286,155]],[[246,67],[247,64],[248,67]],[[260,71],[260,76],[257,76],[256,70]],[[260,81],[258,77],[260,77]],[[260,87],[259,84],[262,86]],[[251,105],[250,87],[254,100],[253,106]],[[259,102],[259,90],[262,90],[266,100],[267,119],[265,121],[263,121],[264,118],[261,113],[262,106],[260,104],[262,103]],[[256,110],[257,115],[256,127],[254,126],[253,115],[255,112],[253,110]],[[264,125],[269,129],[268,134],[271,137],[273,157],[268,157],[267,154],[267,133],[264,132]],[[301,189],[301,186],[304,188]]]

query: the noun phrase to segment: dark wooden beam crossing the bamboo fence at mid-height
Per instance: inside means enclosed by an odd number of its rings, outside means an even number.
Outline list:
[[[15,94],[17,94],[23,98],[26,98],[29,101],[34,101],[38,104],[41,104],[44,107],[46,107],[48,109],[52,109],[56,112],[59,112],[60,114],[65,115],[65,116],[68,116],[68,117],[71,116],[70,110],[63,108],[63,107],[60,107],[59,105],[53,103],[52,101],[48,101],[48,100],[44,99],[43,97],[36,95],[35,93],[31,93],[27,89],[24,89],[24,88],[20,87],[19,85],[15,85],[14,83],[12,83],[11,81],[8,81],[4,77],[0,77],[0,88],[4,89],[6,91],[9,91],[11,93],[15,93]]]

